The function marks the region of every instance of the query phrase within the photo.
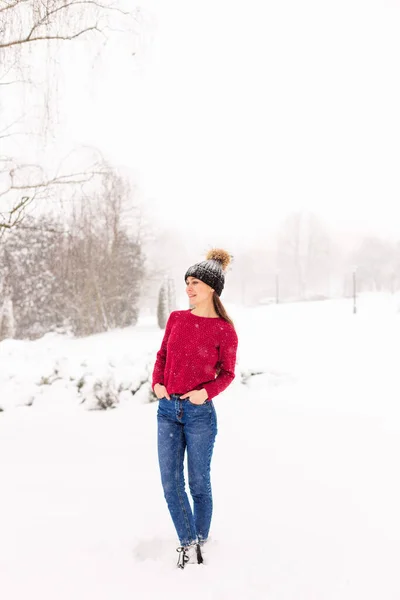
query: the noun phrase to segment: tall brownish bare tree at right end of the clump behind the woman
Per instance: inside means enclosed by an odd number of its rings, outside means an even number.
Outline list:
[[[134,325],[144,265],[140,239],[127,214],[135,212],[129,185],[115,173],[77,204],[63,264],[64,313],[80,335]]]

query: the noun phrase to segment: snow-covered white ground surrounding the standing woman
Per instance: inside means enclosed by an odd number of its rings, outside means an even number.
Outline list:
[[[145,383],[155,321],[0,343],[2,600],[400,598],[396,298],[228,308],[212,540],[184,571]],[[114,410],[91,410],[96,379]]]

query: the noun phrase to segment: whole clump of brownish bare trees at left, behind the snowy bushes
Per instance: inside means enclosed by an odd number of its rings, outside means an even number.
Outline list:
[[[143,256],[140,234],[123,218],[134,197],[119,175],[104,178],[107,184],[87,190],[72,214],[26,214],[6,231],[0,307],[12,298],[16,337],[54,328],[89,335],[136,323]]]

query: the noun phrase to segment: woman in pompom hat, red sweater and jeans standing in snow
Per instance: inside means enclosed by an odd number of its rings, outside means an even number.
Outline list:
[[[190,309],[170,314],[153,370],[152,388],[160,400],[157,413],[158,457],[165,499],[180,546],[178,566],[202,563],[211,516],[211,456],[217,434],[212,399],[235,377],[238,338],[219,299],[230,256],[214,249],[185,274]],[[189,489],[183,460],[187,450]]]

